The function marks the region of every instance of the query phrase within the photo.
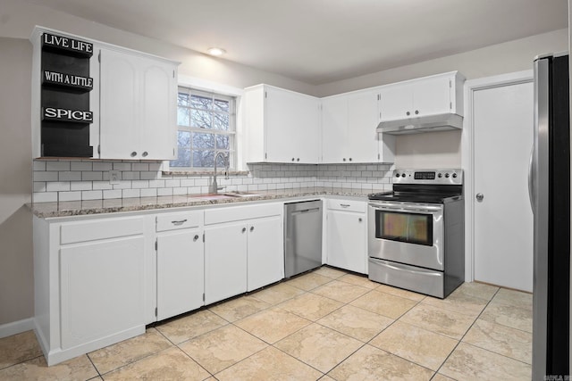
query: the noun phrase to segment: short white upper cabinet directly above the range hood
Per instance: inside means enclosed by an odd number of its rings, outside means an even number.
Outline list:
[[[380,87],[381,120],[426,115],[463,115],[463,76],[458,71],[412,79]]]

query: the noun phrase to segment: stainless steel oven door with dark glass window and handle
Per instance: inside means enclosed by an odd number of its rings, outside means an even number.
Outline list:
[[[375,201],[367,218],[370,257],[444,269],[441,204]]]

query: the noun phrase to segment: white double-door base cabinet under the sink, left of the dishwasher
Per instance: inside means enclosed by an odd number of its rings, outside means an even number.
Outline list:
[[[283,277],[282,203],[205,211],[205,302]]]

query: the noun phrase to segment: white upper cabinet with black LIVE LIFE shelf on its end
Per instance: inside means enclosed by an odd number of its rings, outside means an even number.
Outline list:
[[[176,158],[178,62],[38,27],[30,39],[34,157]]]

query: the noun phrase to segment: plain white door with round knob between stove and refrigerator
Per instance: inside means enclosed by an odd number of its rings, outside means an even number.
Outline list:
[[[474,93],[475,280],[532,292],[533,214],[527,170],[533,83]],[[482,200],[478,201],[476,197]]]

